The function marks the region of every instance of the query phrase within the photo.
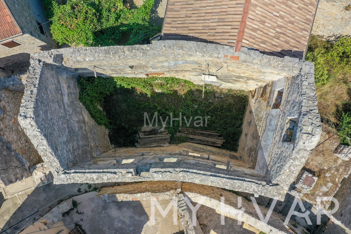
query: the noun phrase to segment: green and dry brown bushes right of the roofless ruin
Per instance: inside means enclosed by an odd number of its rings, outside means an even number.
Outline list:
[[[351,137],[351,37],[341,36],[326,41],[311,36],[306,60],[314,62],[318,110],[322,121],[342,130],[342,144],[350,145]]]

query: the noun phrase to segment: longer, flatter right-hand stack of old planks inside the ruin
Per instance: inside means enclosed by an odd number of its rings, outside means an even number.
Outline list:
[[[225,140],[219,133],[192,128],[179,128],[177,136],[187,137],[188,142],[198,143],[209,146],[222,146]]]

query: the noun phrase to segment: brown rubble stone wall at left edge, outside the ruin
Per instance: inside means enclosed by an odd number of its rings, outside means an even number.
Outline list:
[[[0,136],[28,162],[29,166],[33,166],[42,160],[18,122],[22,96],[23,93],[20,92],[0,90]]]

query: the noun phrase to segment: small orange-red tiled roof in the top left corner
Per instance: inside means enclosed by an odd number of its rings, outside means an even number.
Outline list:
[[[0,40],[20,34],[21,31],[13,21],[11,13],[0,0]]]

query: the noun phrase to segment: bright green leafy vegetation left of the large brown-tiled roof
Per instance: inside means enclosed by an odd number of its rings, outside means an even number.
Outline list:
[[[150,22],[154,0],[145,0],[136,9],[127,8],[122,0],[67,0],[66,4],[44,0],[43,3],[47,17],[52,20],[53,39],[59,45],[121,45],[122,36],[129,37],[126,45],[135,45],[161,31],[161,26]]]

